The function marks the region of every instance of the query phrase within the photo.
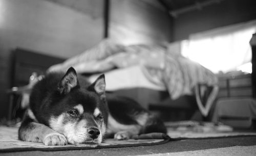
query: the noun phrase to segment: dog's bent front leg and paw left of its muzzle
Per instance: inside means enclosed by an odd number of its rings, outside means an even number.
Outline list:
[[[50,127],[36,122],[29,115],[25,116],[18,131],[19,140],[30,142],[42,142],[45,145],[67,145],[65,136],[53,131]]]

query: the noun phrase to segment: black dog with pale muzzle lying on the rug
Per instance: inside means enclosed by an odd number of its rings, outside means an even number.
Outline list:
[[[124,140],[152,132],[166,133],[166,127],[133,99],[106,93],[104,74],[90,84],[70,67],[33,86],[18,138],[96,147],[106,136]]]

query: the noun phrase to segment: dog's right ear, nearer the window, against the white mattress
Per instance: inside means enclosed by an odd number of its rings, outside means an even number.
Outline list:
[[[101,74],[97,78],[97,80],[89,86],[88,89],[95,91],[96,93],[98,93],[101,96],[105,93],[105,88],[106,88],[105,75]]]

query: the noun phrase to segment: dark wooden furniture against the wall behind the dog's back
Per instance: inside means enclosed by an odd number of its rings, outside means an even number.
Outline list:
[[[12,88],[9,96],[8,120],[14,119],[20,104],[20,95],[27,91],[32,73],[45,74],[46,70],[64,59],[40,54],[38,51],[16,48],[13,51]]]

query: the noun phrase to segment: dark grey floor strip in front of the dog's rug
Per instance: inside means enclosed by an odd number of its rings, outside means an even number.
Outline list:
[[[195,151],[202,149],[214,149],[232,146],[253,146],[256,145],[256,136],[246,137],[229,137],[214,139],[186,139],[179,141],[170,141],[162,145],[124,147],[124,148],[105,148],[90,150],[69,150],[69,151],[26,151],[26,152],[9,152],[0,153],[0,155],[145,155],[157,153],[172,153],[181,151]],[[255,149],[256,150],[256,149]],[[212,153],[214,154],[214,153]],[[245,155],[251,155],[245,153]],[[161,154],[160,154],[161,155]]]

